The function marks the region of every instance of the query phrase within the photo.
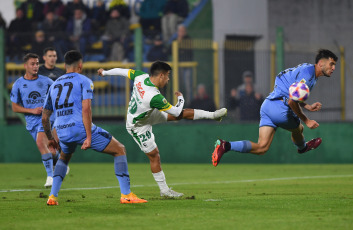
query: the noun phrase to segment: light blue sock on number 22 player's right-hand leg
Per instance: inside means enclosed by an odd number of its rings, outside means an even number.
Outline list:
[[[119,180],[121,193],[124,195],[131,193],[130,176],[127,169],[126,155],[114,157],[114,170],[116,178]]]

